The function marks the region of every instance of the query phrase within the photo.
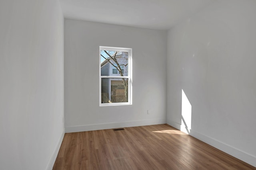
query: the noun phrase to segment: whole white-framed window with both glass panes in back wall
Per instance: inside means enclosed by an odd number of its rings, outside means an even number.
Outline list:
[[[132,49],[100,46],[100,106],[132,104]]]

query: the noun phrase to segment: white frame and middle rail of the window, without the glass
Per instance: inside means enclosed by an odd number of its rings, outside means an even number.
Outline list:
[[[128,53],[128,76],[101,76],[101,56],[99,55],[99,103],[100,106],[120,106],[120,105],[132,105],[132,49],[131,48],[122,48],[122,47],[106,47],[100,46],[100,51],[122,51]],[[112,72],[112,71],[111,71]],[[102,78],[128,78],[128,102],[120,103],[101,103],[101,79]]]

